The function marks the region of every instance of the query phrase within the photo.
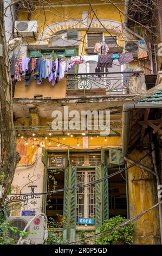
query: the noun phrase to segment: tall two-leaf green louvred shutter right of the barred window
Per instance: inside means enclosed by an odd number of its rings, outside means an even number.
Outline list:
[[[108,176],[107,167],[96,166],[95,178],[96,180],[106,178]],[[99,233],[103,221],[108,219],[108,179],[97,182],[95,185],[96,199],[95,199],[95,229]]]

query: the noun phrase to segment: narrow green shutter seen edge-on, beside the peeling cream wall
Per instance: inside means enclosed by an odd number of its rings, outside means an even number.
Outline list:
[[[42,158],[41,158],[43,164],[44,164],[44,180],[43,180],[43,192],[47,191],[47,164],[48,164],[48,152],[43,147],[42,148]],[[47,202],[47,194],[43,194],[43,212],[46,213],[46,202]]]

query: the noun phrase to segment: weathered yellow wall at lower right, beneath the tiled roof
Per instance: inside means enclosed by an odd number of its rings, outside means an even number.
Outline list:
[[[146,152],[132,151],[127,157],[133,161],[137,161]],[[149,157],[146,157],[140,162],[142,165],[153,169]],[[128,166],[130,163],[127,163]],[[133,181],[133,179],[150,179]],[[130,217],[140,214],[158,202],[156,181],[152,174],[146,170],[133,166],[128,169],[128,193],[129,193],[129,214]],[[135,221],[135,244],[157,244],[160,243],[159,233],[159,211],[155,208],[139,220]]]

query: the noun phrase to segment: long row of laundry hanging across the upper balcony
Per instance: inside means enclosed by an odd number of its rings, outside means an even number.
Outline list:
[[[74,64],[83,64],[95,62],[96,72],[102,72],[103,68],[112,68],[113,60],[118,60],[119,65],[129,63],[133,60],[132,53],[107,53],[106,55],[83,55],[75,56],[67,59],[61,58],[35,58],[23,57],[12,60],[11,77],[14,82],[22,81],[22,76],[25,76],[25,86],[29,86],[31,75],[38,85],[44,79],[51,82],[51,86],[55,86],[58,79],[64,78],[66,72],[73,68]]]

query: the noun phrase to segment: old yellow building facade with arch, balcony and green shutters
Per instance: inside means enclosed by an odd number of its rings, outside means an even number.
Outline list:
[[[25,8],[19,10],[17,20],[37,21],[38,33],[36,38],[24,36],[23,43],[18,46],[18,54],[21,57],[51,59],[93,56],[93,44],[101,38],[102,41],[107,40],[109,52],[118,54],[124,52],[125,40],[135,40],[132,34],[123,31],[125,1],[112,1],[114,4],[90,1],[92,5],[86,0],[73,2],[63,1],[60,4],[50,1],[48,4],[46,1],[42,7],[39,6],[40,2],[35,1],[30,12]],[[33,80],[34,75],[31,75],[29,86],[25,86],[23,76],[22,81],[16,82],[14,118],[17,151],[21,155],[21,161],[16,168],[12,193],[33,193],[30,186],[34,186],[34,193],[55,189],[62,191],[47,196],[42,193],[34,198],[29,196],[27,204],[23,201],[18,205],[13,203],[12,216],[20,217],[23,210],[34,210],[36,214],[44,212],[48,218],[56,221],[60,230],[63,229],[64,238],[75,242],[81,230],[85,230],[87,234],[92,234],[95,230],[98,232],[107,218],[116,215],[133,217],[155,203],[156,199],[151,193],[155,186],[153,181],[141,181],[140,184],[133,182],[132,176],[140,175],[140,169],[134,166],[127,170],[129,163],[124,162],[121,155],[122,106],[146,90],[145,84],[141,82],[144,75],[142,72],[146,71],[145,66],[143,68],[140,65],[143,62],[145,61],[134,58],[133,62],[121,65],[118,69],[114,62],[113,68],[108,70],[111,75],[106,75],[108,72],[103,70],[104,79],[96,78],[94,63],[87,63],[77,65],[71,75],[67,73],[53,87],[47,80],[37,85]],[[129,92],[123,89],[126,87],[123,82],[126,72],[129,75],[126,78],[129,81]],[[79,87],[78,74],[82,74],[81,81],[86,77],[86,82],[93,80],[95,86],[87,91],[85,87]],[[75,82],[72,86],[73,80]],[[113,85],[105,90],[108,80]],[[68,107],[70,115],[64,114],[64,107]],[[62,113],[63,125],[66,121],[72,121],[76,111],[80,116],[75,121],[80,128],[75,130],[68,126],[67,129],[66,126],[64,129],[63,126],[62,129],[54,130],[52,124],[56,116],[53,111]],[[109,111],[109,134],[104,135],[99,129],[95,129],[93,118],[91,129],[88,126],[83,129],[82,122],[87,124],[87,119],[81,119],[82,111],[96,111],[98,114],[103,112],[104,120],[106,111]],[[57,120],[57,124],[60,120]],[[140,156],[136,155],[134,160],[137,157]],[[105,192],[102,182],[93,183],[123,168],[124,172],[103,182]],[[74,194],[73,190],[63,192],[63,188],[90,182],[92,185],[77,188]],[[107,194],[106,201],[103,200],[104,193]],[[73,204],[73,207],[68,204]],[[157,216],[155,209],[135,222],[134,243],[158,243]],[[80,224],[79,218],[91,218],[94,224]],[[157,218],[156,224],[153,224],[154,218]],[[64,222],[67,222],[68,227]]]

